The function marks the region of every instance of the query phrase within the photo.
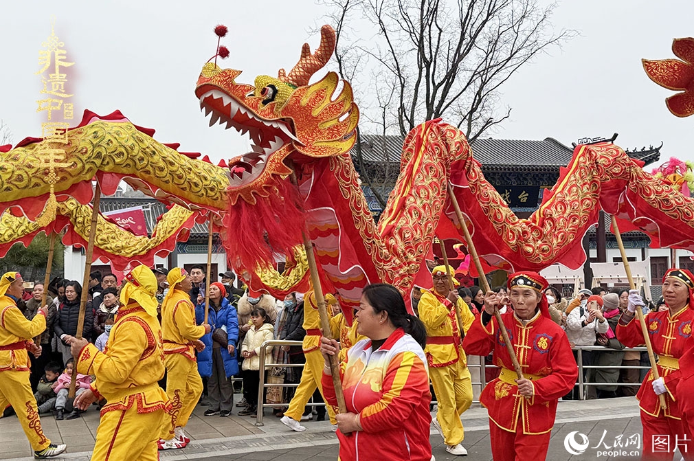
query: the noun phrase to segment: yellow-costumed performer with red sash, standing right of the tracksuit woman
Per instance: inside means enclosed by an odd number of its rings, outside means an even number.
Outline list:
[[[423,291],[418,310],[427,329],[424,352],[439,404],[434,426],[443,435],[448,453],[467,455],[461,444],[465,431],[460,415],[473,403],[473,386],[458,319],[465,333],[475,316],[457,291],[450,290],[445,266],[434,267],[432,278],[434,290]]]

